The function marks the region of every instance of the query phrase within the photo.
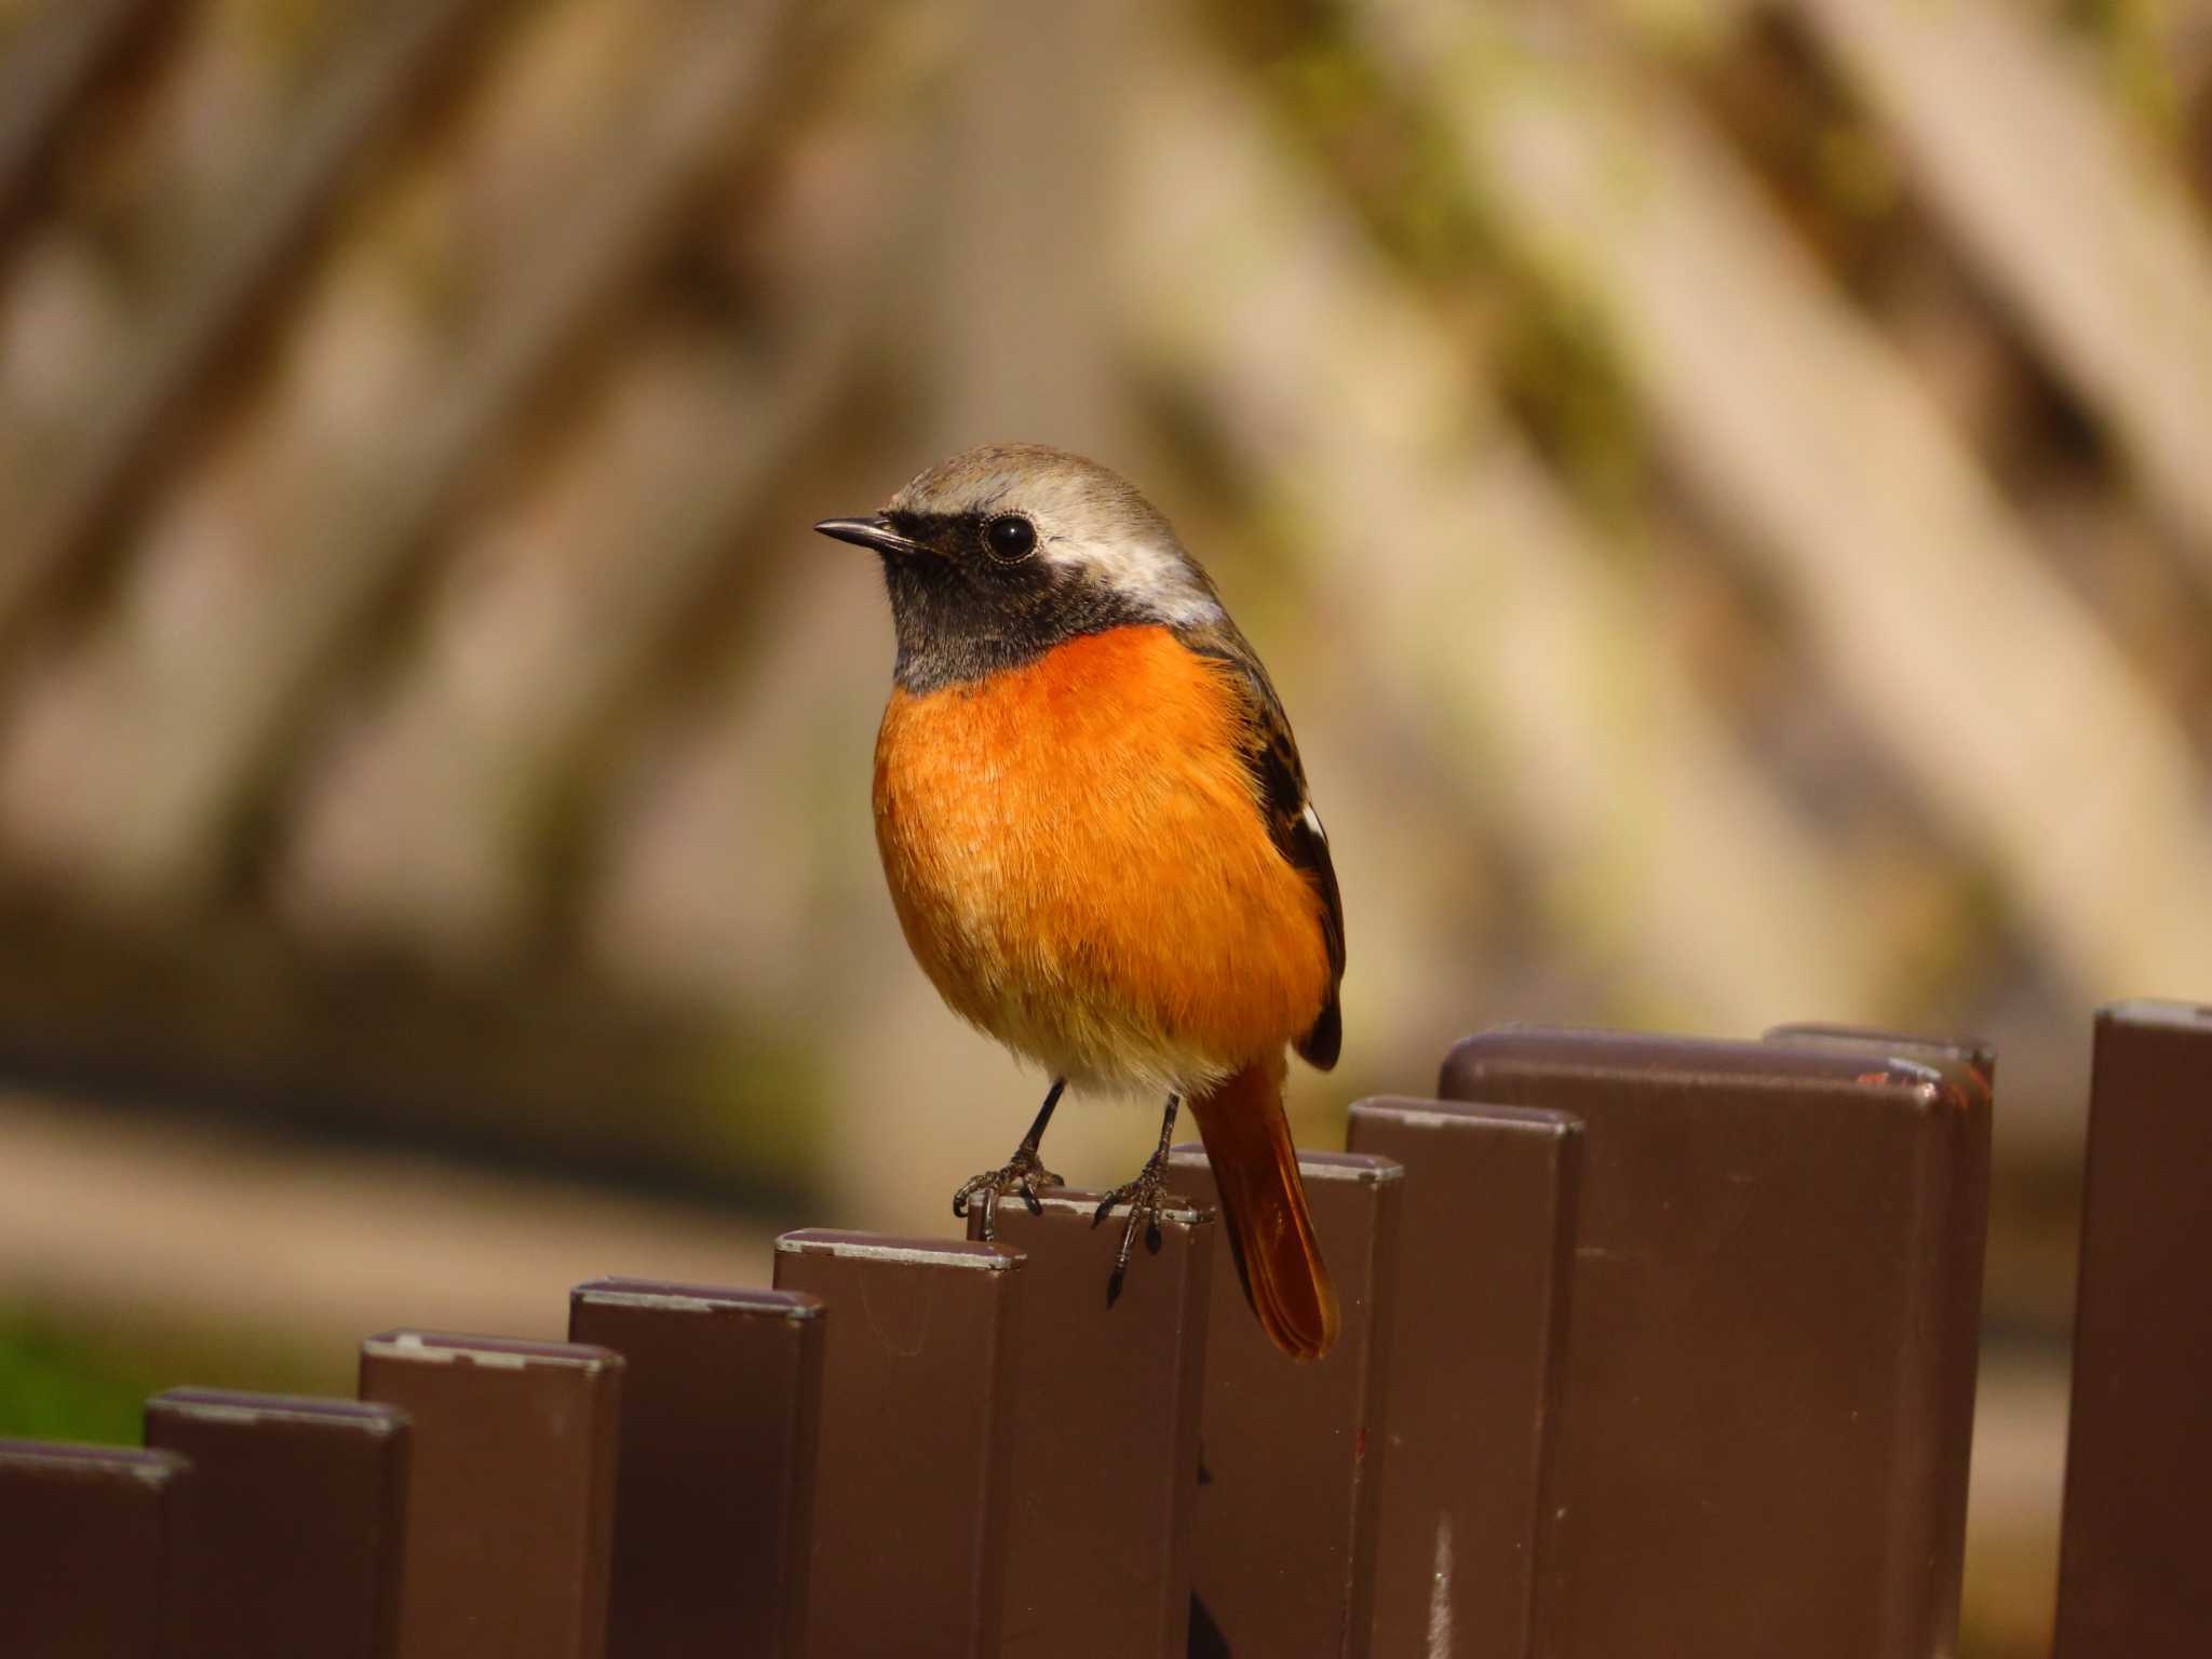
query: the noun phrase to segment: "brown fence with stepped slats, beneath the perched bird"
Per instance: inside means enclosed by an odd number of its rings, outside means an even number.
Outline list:
[[[1197,1148],[1108,1307],[1088,1194],[801,1230],[361,1400],[0,1442],[0,1652],[1951,1652],[1995,1057],[1506,1026],[1303,1161],[1345,1329],[1248,1316]],[[2097,1022],[2059,1652],[2212,1652],[2212,1006]]]

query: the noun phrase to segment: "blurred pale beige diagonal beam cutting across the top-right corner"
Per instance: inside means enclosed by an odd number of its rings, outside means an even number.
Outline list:
[[[2039,13],[1794,4],[2212,577],[2212,237],[2179,170]]]

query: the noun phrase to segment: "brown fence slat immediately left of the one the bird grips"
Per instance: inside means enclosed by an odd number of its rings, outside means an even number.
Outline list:
[[[776,1290],[821,1296],[807,1652],[998,1655],[1022,1256],[805,1228]]]

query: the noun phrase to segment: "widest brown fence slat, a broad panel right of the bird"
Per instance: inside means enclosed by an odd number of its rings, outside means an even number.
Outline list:
[[[1588,1126],[1546,1650],[1949,1650],[1986,1099],[1854,1048],[1542,1029],[1469,1037],[1440,1093]]]

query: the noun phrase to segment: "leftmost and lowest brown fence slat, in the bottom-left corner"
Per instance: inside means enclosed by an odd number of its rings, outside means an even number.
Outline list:
[[[0,1652],[164,1659],[190,1480],[168,1451],[0,1440]]]

